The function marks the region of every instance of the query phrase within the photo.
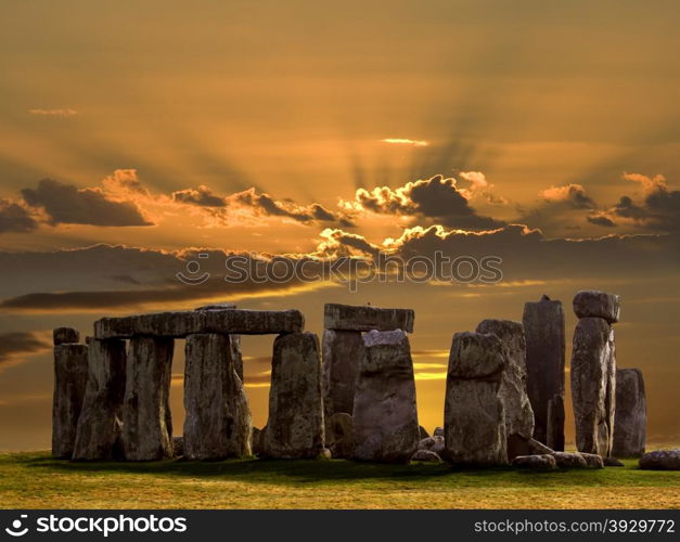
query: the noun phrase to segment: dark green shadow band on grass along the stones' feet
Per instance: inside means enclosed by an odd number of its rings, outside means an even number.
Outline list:
[[[663,479],[637,468],[607,468],[602,470],[517,470],[509,467],[459,469],[447,464],[384,465],[346,460],[227,460],[220,462],[161,461],[127,462],[68,462],[48,454],[17,454],[15,463],[28,468],[80,475],[150,475],[222,479],[274,485],[333,485],[346,482],[399,482],[407,486],[441,487],[565,487],[565,486],[646,486],[678,483],[678,478]],[[665,483],[664,483],[665,482]]]

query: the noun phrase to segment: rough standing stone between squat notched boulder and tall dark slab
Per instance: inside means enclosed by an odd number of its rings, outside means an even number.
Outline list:
[[[513,451],[513,442],[526,442],[534,435],[534,411],[526,390],[526,341],[522,323],[510,320],[484,320],[476,333],[492,334],[501,339],[505,365],[498,390],[505,413],[505,436],[508,457],[512,460],[519,452]]]

